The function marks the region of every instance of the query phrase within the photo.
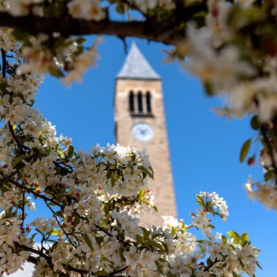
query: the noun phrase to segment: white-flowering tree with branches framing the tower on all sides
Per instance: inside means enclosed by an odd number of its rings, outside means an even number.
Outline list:
[[[141,226],[139,213],[155,208],[148,155],[120,145],[76,152],[33,104],[43,73],[70,84],[95,64],[98,40],[85,48],[82,35],[170,44],[168,60],[197,75],[208,95],[228,96],[217,114],[251,115],[256,136],[240,160],[260,142],[265,182],[247,190],[277,209],[276,15],[271,1],[0,0],[2,271],[32,262],[33,276],[255,276],[258,249],[247,233],[213,233],[210,216],[228,215],[216,193],[197,195],[188,224],[164,217],[164,226]],[[53,216],[28,220],[35,202]]]

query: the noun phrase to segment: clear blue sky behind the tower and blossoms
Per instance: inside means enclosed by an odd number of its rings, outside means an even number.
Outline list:
[[[89,39],[90,41],[91,39]],[[120,39],[104,37],[99,46],[98,66],[84,75],[82,84],[66,89],[60,80],[46,77],[36,105],[56,125],[58,134],[73,138],[75,148],[89,151],[91,145],[114,143],[113,96],[116,73],[125,60]],[[261,168],[239,163],[240,147],[254,133],[249,120],[218,118],[211,107],[222,101],[204,96],[199,82],[179,64],[163,64],[166,46],[135,39],[137,45],[163,78],[163,93],[173,179],[179,218],[189,220],[197,208],[195,194],[216,191],[229,205],[226,223],[216,222],[217,231],[249,233],[262,250],[257,277],[275,274],[277,214],[247,199],[244,183],[249,175],[262,179]],[[130,46],[131,39],[127,39]],[[41,206],[36,213],[42,214]]]

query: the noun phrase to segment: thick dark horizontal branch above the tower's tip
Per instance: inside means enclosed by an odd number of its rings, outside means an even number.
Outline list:
[[[188,21],[193,14],[206,10],[206,3],[190,6],[178,11],[179,19]],[[115,35],[118,37],[139,37],[150,41],[176,44],[185,35],[175,29],[179,19],[172,16],[163,21],[154,18],[145,21],[86,21],[73,19],[69,16],[62,18],[44,18],[28,15],[25,17],[12,17],[8,12],[0,12],[0,26],[17,28],[18,30],[36,35],[37,33],[61,35]]]

